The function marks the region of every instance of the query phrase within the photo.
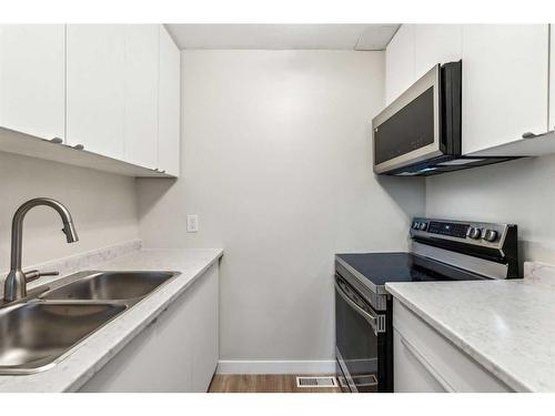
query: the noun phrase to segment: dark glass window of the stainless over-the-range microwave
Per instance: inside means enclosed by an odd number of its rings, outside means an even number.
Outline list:
[[[374,129],[375,164],[434,142],[434,88],[431,87]]]

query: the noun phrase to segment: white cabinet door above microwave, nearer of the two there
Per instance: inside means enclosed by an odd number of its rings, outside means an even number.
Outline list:
[[[458,61],[463,49],[461,24],[414,26],[415,81],[437,63]]]

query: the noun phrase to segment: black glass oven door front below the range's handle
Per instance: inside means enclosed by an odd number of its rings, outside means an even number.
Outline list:
[[[379,337],[373,327],[335,291],[335,344],[360,393],[379,390]]]

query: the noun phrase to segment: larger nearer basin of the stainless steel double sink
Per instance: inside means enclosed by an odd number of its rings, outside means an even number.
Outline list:
[[[31,302],[0,310],[0,374],[48,368],[124,304]]]

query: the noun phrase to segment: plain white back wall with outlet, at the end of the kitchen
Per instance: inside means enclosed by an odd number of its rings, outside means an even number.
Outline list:
[[[222,359],[333,359],[334,253],[405,250],[424,212],[422,180],[372,172],[383,53],[185,51],[182,77],[183,175],[138,181],[144,244],[224,247]]]

